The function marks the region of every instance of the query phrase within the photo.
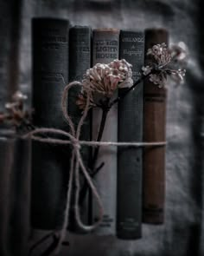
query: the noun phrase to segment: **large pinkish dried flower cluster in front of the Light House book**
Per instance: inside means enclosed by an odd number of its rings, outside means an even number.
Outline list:
[[[90,108],[98,106],[101,99],[111,99],[118,88],[130,87],[131,64],[125,60],[114,60],[109,64],[97,63],[86,70],[82,90],[76,104],[80,109],[86,106],[86,94],[90,95]]]

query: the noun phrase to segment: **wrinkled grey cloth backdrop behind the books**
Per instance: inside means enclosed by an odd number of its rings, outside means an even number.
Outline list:
[[[204,65],[201,48],[203,3],[197,0],[23,0],[22,3],[17,1],[21,4],[21,29],[14,38],[20,41],[20,58],[18,54],[14,54],[12,58],[10,31],[12,32],[11,20],[15,19],[15,16],[11,15],[13,2],[2,0],[0,3],[1,24],[9,24],[7,30],[0,31],[1,50],[4,49],[4,61],[0,62],[1,106],[5,95],[10,95],[10,91],[16,86],[30,95],[32,16],[65,17],[73,24],[91,25],[92,28],[141,30],[152,26],[165,27],[170,32],[172,43],[183,41],[188,45],[190,61],[186,82],[180,87],[169,84],[165,224],[143,225],[143,238],[135,241],[118,240],[114,237],[69,235],[71,246],[64,249],[63,255],[204,255]],[[3,18],[5,11],[8,14],[6,20]],[[16,42],[19,43],[17,39]],[[17,50],[17,47],[13,49],[13,53]],[[18,82],[17,85],[8,79],[11,75],[8,68],[10,65],[5,65],[13,60],[16,63],[16,70],[20,69],[19,75],[15,76],[17,80],[13,80]],[[32,239],[36,240],[39,235],[39,231],[34,231]]]

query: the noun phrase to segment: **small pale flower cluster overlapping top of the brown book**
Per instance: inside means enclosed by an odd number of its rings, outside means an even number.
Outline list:
[[[165,43],[156,44],[148,49],[147,55],[152,56],[152,62],[143,67],[143,75],[150,75],[150,82],[155,83],[158,87],[163,87],[167,83],[169,76],[175,82],[183,82],[186,69],[176,69],[180,61],[184,61],[186,50],[182,46],[173,46],[167,48]]]

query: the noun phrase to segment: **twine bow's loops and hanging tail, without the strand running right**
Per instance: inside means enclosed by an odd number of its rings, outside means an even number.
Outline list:
[[[61,227],[61,233],[60,233],[60,238],[58,241],[58,245],[56,246],[56,249],[54,250],[54,254],[60,253],[61,250],[61,244],[62,241],[65,238],[66,231],[67,231],[67,226],[69,224],[69,212],[70,212],[70,207],[71,207],[71,195],[73,193],[73,182],[75,183],[76,190],[74,191],[74,213],[75,213],[75,220],[78,226],[80,226],[83,230],[86,231],[92,231],[92,229],[96,228],[99,226],[100,222],[103,219],[103,214],[104,214],[104,209],[103,209],[103,204],[102,201],[99,197],[99,194],[97,192],[96,187],[94,186],[91,177],[88,174],[88,171],[86,170],[86,167],[84,166],[84,163],[81,159],[81,154],[80,154],[80,130],[81,127],[86,119],[86,115],[88,113],[89,109],[89,103],[90,103],[90,95],[87,94],[87,100],[86,100],[86,108],[83,112],[83,115],[80,118],[80,122],[77,126],[77,129],[75,130],[72,118],[67,114],[67,98],[68,98],[68,91],[75,85],[80,85],[80,82],[70,82],[67,84],[65,87],[63,94],[62,94],[62,100],[61,100],[61,109],[64,115],[65,120],[67,121],[67,124],[70,128],[70,133],[67,133],[65,131],[62,131],[61,129],[55,129],[55,128],[36,128],[34,131],[30,132],[28,135],[25,135],[24,137],[31,136],[32,139],[33,135],[36,134],[45,134],[45,133],[53,133],[57,135],[64,135],[69,138],[73,146],[73,151],[72,151],[72,158],[70,162],[70,172],[69,172],[69,181],[67,184],[67,203],[65,207],[65,212],[64,212],[64,220],[63,224]],[[54,139],[56,141],[61,141],[59,139]],[[54,140],[52,138],[46,138],[43,139],[41,137],[35,136],[35,141],[43,141],[43,142],[48,142],[48,143],[54,143]],[[96,202],[99,205],[99,220],[93,223],[90,226],[86,226],[83,224],[81,218],[80,218],[80,206],[79,206],[79,197],[80,197],[80,169],[82,173],[84,174],[86,181],[91,187],[91,191],[93,196],[96,198]],[[75,176],[75,179],[73,177]]]

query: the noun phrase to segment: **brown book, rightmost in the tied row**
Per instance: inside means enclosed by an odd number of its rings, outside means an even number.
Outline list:
[[[153,45],[168,43],[168,31],[145,30],[145,53]],[[145,65],[152,62],[145,56]],[[165,141],[167,91],[145,79],[143,84],[143,141]],[[165,146],[143,150],[143,222],[162,224],[165,200]]]

